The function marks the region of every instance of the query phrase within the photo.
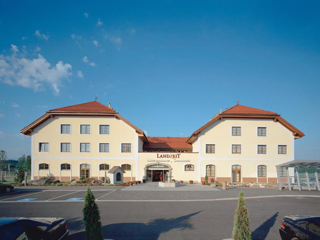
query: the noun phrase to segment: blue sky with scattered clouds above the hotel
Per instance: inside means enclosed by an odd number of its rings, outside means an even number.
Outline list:
[[[275,111],[319,159],[316,1],[0,2],[0,148],[45,111],[110,102],[149,136],[189,136],[220,107]]]

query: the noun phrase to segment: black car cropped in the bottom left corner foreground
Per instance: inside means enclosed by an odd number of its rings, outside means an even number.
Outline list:
[[[63,240],[69,231],[64,218],[0,218],[5,240]]]

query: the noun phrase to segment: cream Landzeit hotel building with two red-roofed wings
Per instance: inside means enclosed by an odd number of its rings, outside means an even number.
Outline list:
[[[171,173],[184,181],[207,175],[209,181],[276,183],[275,166],[294,160],[294,140],[304,136],[275,112],[237,104],[190,137],[147,137],[98,101],[49,110],[21,133],[31,136],[31,179],[61,181],[101,179],[121,166],[124,181],[167,180]]]

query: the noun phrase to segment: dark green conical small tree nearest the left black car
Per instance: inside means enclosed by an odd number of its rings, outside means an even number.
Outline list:
[[[84,197],[83,221],[86,240],[103,240],[100,211],[91,189],[88,187]]]

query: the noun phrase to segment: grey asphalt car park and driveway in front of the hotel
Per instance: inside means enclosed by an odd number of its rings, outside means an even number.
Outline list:
[[[15,188],[10,194],[0,195],[0,216],[64,217],[67,219],[70,231],[68,239],[84,239],[82,208],[85,189],[85,187]],[[236,197],[240,190],[244,192],[245,197],[258,196],[246,199],[252,239],[280,239],[278,228],[285,215],[320,215],[320,191],[290,192],[269,188],[228,188],[226,191],[123,191],[121,189],[123,188],[92,187],[100,209],[105,238],[115,240],[230,238],[237,204]],[[280,197],[268,197],[277,195]]]

